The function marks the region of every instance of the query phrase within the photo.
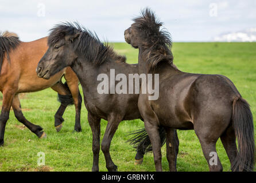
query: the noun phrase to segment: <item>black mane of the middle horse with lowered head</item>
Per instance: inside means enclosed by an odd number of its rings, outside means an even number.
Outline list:
[[[79,34],[79,37],[73,41],[74,50],[79,51],[84,58],[95,65],[100,65],[109,60],[126,62],[125,56],[115,53],[112,46],[108,45],[108,43],[102,43],[96,33],[92,33],[90,30],[85,29],[77,22],[65,22],[56,25],[51,29],[48,45],[52,46],[61,39],[64,39],[65,36],[76,34]]]

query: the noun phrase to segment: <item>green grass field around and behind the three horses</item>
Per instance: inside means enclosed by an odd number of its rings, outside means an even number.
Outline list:
[[[138,50],[126,43],[114,43],[119,54],[125,54],[128,63],[137,63]],[[256,117],[256,43],[173,43],[174,63],[180,70],[191,73],[223,74],[235,86],[249,104]],[[81,89],[82,90],[82,89]],[[0,96],[2,98],[2,96]],[[0,101],[2,105],[2,101]],[[6,125],[5,146],[0,148],[1,171],[91,171],[92,133],[87,121],[87,111],[82,105],[82,133],[72,133],[75,124],[75,108],[69,106],[64,113],[63,129],[54,128],[54,114],[59,108],[57,94],[46,89],[28,93],[21,99],[24,116],[42,126],[46,139],[36,135],[18,122],[13,111]],[[107,122],[101,122],[103,137]],[[255,122],[254,122],[255,125]],[[111,143],[110,153],[119,171],[154,171],[153,154],[146,154],[142,165],[134,165],[135,149],[126,143],[128,132],[143,127],[140,120],[123,121]],[[193,130],[178,130],[180,151],[178,171],[208,171],[199,140]],[[162,147],[162,166],[169,170],[166,148]],[[45,153],[45,166],[37,166],[37,153]],[[230,169],[230,162],[220,140],[217,152],[223,170]],[[99,168],[106,171],[103,153],[100,152]]]

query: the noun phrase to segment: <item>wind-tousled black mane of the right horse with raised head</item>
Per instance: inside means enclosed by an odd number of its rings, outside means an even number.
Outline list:
[[[138,34],[137,43],[143,49],[148,50],[149,68],[154,68],[161,61],[166,61],[173,65],[173,55],[170,48],[172,39],[165,29],[160,29],[162,23],[156,18],[154,13],[146,8],[141,11],[141,16],[133,19],[133,28]]]

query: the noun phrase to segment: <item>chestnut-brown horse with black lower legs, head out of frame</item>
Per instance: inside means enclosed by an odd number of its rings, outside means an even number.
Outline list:
[[[42,55],[48,49],[47,37],[32,42],[21,42],[15,33],[5,32],[0,36],[0,90],[3,94],[0,116],[0,145],[3,145],[6,122],[9,119],[11,106],[18,121],[29,128],[38,138],[46,137],[41,126],[34,125],[21,112],[19,93],[37,92],[51,87],[59,94],[60,108],[55,114],[57,132],[61,129],[62,116],[69,104],[75,104],[75,130],[81,131],[80,109],[82,97],[79,93],[78,78],[70,67],[67,67],[51,79],[37,77],[36,67]],[[63,84],[61,77],[67,82]]]

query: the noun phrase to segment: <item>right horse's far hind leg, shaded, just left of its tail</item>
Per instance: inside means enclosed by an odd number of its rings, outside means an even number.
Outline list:
[[[226,132],[222,134],[220,137],[220,140],[222,140],[222,144],[226,150],[227,156],[230,159],[231,164],[231,170],[233,171],[234,161],[237,154],[237,148],[235,143],[235,131],[232,125],[228,127]]]

